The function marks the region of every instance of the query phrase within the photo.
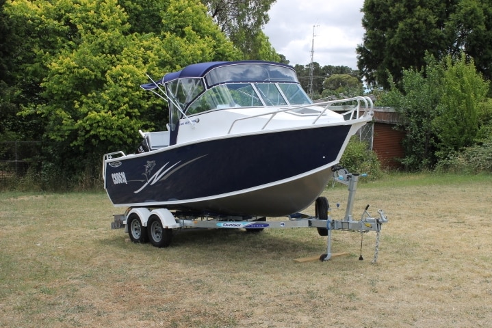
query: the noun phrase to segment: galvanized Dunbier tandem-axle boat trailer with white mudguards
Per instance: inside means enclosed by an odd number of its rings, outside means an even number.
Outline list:
[[[215,228],[215,229],[246,229],[248,232],[261,232],[266,228],[317,228],[320,236],[326,236],[326,254],[320,256],[321,261],[328,261],[334,256],[331,252],[331,234],[333,230],[352,231],[364,234],[376,232],[376,247],[374,249],[375,263],[378,259],[379,239],[383,223],[388,219],[383,210],[378,210],[378,217],[371,217],[365,207],[361,219],[355,220],[352,216],[355,193],[359,177],[365,174],[351,174],[343,167],[333,167],[333,180],[348,186],[348,201],[344,219],[335,220],[331,217],[331,208],[326,197],[315,200],[315,216],[302,213],[289,215],[285,220],[267,221],[266,217],[218,215],[215,213],[194,213],[176,210],[171,212],[167,208],[130,207],[125,214],[114,215],[112,229],[125,228],[134,243],[149,241],[155,247],[168,247],[173,232],[187,228]],[[337,204],[338,206],[339,204]],[[362,257],[362,242],[361,256]]]

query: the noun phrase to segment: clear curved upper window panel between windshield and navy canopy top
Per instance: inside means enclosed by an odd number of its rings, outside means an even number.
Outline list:
[[[298,82],[291,68],[274,64],[234,64],[214,68],[205,76],[207,85],[224,82]]]

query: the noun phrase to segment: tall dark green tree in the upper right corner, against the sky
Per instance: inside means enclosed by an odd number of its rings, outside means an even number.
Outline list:
[[[387,88],[391,76],[401,86],[403,70],[422,68],[426,52],[440,60],[463,51],[491,79],[491,8],[490,0],[366,0],[359,70],[372,85]]]

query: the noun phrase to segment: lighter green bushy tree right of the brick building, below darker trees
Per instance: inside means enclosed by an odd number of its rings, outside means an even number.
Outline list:
[[[451,55],[441,61],[427,55],[424,68],[403,71],[401,92],[391,78],[389,84],[391,90],[376,103],[395,107],[402,115],[407,169],[430,169],[474,142],[488,84],[464,54],[457,61]]]

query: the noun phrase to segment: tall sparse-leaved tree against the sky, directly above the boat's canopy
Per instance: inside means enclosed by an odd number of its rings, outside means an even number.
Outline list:
[[[280,61],[261,27],[275,0],[202,0],[220,30],[243,53],[244,59]],[[268,53],[267,57],[265,51]],[[274,54],[273,54],[274,53]]]

